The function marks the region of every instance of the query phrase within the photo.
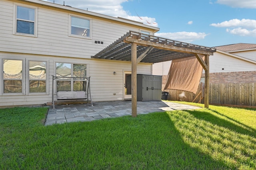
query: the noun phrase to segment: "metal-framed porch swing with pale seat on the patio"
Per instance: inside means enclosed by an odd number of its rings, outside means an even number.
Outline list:
[[[82,82],[83,91],[66,91],[59,89],[57,79],[59,80],[70,80],[75,78]],[[70,80],[71,81],[71,80]],[[54,86],[57,91],[57,100],[54,100]],[[90,97],[90,100],[89,100]],[[55,104],[82,104],[82,103],[91,103],[92,96],[90,89],[90,77],[62,77],[62,76],[53,76],[52,75],[52,106],[55,109]]]

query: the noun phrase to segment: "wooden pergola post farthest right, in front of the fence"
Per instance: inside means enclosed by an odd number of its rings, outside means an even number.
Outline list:
[[[209,55],[205,56],[205,64],[207,69],[205,70],[205,80],[204,80],[204,108],[209,108],[209,88],[210,88],[210,69],[209,69]]]

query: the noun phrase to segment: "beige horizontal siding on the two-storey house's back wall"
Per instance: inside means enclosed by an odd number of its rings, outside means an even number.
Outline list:
[[[22,3],[20,3],[22,2]],[[24,4],[23,4],[24,2]],[[42,2],[43,3],[43,2]],[[49,3],[50,4],[50,3]],[[14,5],[37,8],[37,37],[13,34]],[[53,4],[56,6],[56,4]],[[90,13],[90,12],[89,12]],[[92,39],[68,36],[69,16],[78,16],[91,20]],[[91,77],[93,101],[123,100],[123,72],[131,70],[131,63],[91,59],[128,31],[156,31],[148,26],[129,24],[108,17],[100,18],[69,10],[38,5],[25,1],[0,1],[0,60],[24,59],[48,62],[46,93],[28,93],[28,75],[24,77],[26,90],[24,95],[3,94],[0,84],[0,106],[41,105],[52,101],[52,75],[55,75],[56,62],[87,64],[87,76]],[[128,21],[130,22],[130,21]],[[102,41],[96,44],[94,41]],[[2,68],[1,68],[2,69]],[[113,72],[116,72],[116,75]],[[152,64],[138,64],[138,74],[152,74]],[[0,75],[2,80],[2,75]],[[116,94],[116,95],[114,95]],[[54,90],[56,100],[56,90]]]

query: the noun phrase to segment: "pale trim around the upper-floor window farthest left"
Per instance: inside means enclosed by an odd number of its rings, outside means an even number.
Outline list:
[[[17,33],[17,27],[16,27],[16,24],[17,24],[17,6],[22,6],[22,7],[25,7],[25,8],[33,8],[35,9],[35,21],[34,21],[34,35],[32,34],[26,34],[26,33]],[[14,35],[23,35],[23,36],[28,36],[28,37],[37,37],[37,21],[38,21],[38,8],[35,7],[35,6],[30,6],[30,5],[26,5],[24,6],[24,4],[14,4],[13,6],[13,34]]]

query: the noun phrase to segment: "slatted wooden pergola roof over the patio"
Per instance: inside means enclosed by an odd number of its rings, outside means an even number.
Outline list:
[[[213,55],[216,49],[162,37],[130,31],[91,58],[131,61],[132,45],[137,44],[137,56],[142,63],[159,63],[200,55]],[[146,56],[146,57],[145,57]]]

